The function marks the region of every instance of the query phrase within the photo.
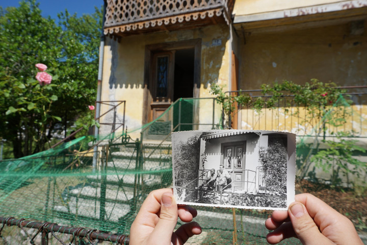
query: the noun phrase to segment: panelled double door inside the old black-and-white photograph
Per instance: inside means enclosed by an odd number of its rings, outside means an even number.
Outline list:
[[[232,190],[245,188],[245,143],[233,144],[224,147],[224,167],[231,173]]]

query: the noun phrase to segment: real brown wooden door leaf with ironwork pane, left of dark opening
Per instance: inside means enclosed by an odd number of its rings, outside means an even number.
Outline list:
[[[149,121],[160,117],[173,102],[174,53],[155,53],[151,62]]]

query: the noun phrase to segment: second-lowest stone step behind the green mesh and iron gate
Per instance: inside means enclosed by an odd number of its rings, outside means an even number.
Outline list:
[[[100,199],[100,187],[84,186],[81,188],[72,189],[69,192],[71,197],[78,197],[81,199],[95,200]],[[106,188],[106,202],[117,202],[117,203],[127,203],[134,199],[134,191],[125,190],[124,188],[110,189]]]

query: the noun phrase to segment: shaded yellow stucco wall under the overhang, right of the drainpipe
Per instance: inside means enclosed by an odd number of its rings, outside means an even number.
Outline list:
[[[242,38],[242,37],[241,37]],[[351,35],[350,25],[258,34],[240,41],[240,86],[317,78],[339,86],[367,85],[366,34]],[[243,39],[242,39],[243,40]]]

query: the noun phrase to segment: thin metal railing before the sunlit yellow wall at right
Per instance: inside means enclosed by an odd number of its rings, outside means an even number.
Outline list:
[[[352,104],[338,103],[330,105],[330,112],[339,113],[340,119],[345,119],[341,126],[329,124],[330,118],[320,116],[322,113],[313,111],[309,114],[305,105],[299,105],[294,101],[292,94],[283,95],[278,103],[271,108],[263,108],[256,111],[251,106],[238,106],[235,116],[228,118],[228,124],[232,120],[238,121],[238,129],[243,130],[272,130],[293,132],[298,136],[322,136],[335,137],[337,132],[348,131],[352,137],[367,137],[367,121],[363,117],[367,112],[367,86],[337,87],[347,90],[340,100],[350,100]],[[253,101],[258,98],[269,100],[271,96],[261,94],[261,89],[236,90],[226,93],[246,93]],[[308,114],[307,114],[308,113]],[[331,114],[332,114],[331,113]],[[343,114],[344,113],[344,114]],[[237,118],[236,118],[237,117]]]

